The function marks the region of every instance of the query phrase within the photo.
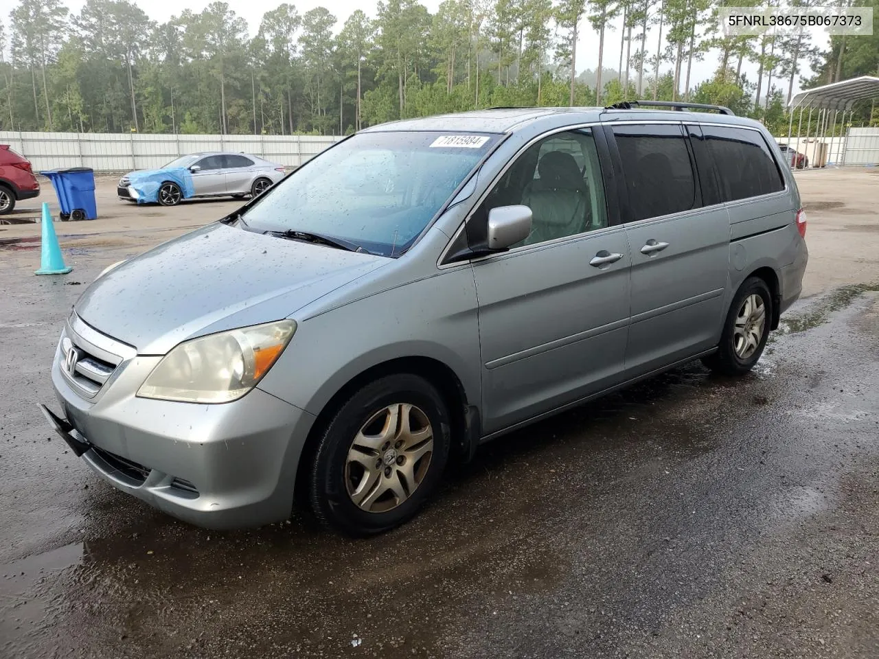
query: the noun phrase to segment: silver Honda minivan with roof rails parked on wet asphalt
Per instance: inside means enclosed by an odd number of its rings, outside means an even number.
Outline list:
[[[646,105],[353,134],[103,272],[47,419],[193,524],[284,520],[295,498],[362,536],[489,439],[694,358],[747,373],[801,290],[791,170],[726,108]]]

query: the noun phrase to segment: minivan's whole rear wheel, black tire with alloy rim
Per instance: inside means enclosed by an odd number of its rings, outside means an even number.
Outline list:
[[[772,317],[769,286],[759,277],[745,279],[726,315],[717,351],[702,358],[702,363],[722,375],[748,373],[763,354]]]

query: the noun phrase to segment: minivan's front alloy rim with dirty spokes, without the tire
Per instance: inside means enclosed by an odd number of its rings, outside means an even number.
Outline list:
[[[345,487],[367,512],[390,511],[418,489],[430,467],[433,429],[424,411],[394,403],[370,416],[345,461]]]

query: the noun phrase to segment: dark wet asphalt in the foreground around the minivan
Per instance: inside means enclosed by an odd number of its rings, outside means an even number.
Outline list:
[[[486,445],[352,541],[185,525],[53,436],[73,282],[139,251],[79,249],[0,267],[0,657],[879,656],[875,290],[798,302],[742,379],[696,362]]]

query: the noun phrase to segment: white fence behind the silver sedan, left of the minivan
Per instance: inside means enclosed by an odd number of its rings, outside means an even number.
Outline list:
[[[0,131],[0,144],[31,161],[34,171],[91,167],[125,172],[161,167],[196,151],[234,151],[297,167],[341,138],[335,135],[168,135],[19,133]]]

